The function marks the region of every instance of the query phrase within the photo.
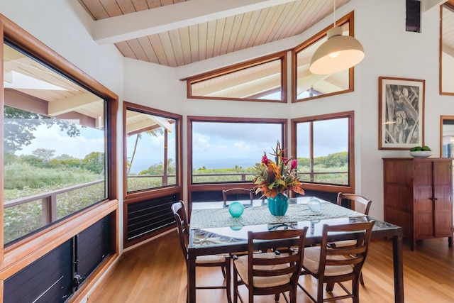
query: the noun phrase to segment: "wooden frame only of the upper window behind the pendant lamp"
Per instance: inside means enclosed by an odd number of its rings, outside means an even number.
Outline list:
[[[348,23],[348,34],[352,37],[355,36],[355,13],[354,11],[348,13],[347,15],[343,16],[340,18],[338,21],[336,21],[336,26],[343,26],[345,23]],[[348,89],[344,89],[343,91],[339,92],[333,92],[329,94],[321,94],[318,96],[313,96],[313,97],[306,97],[302,99],[297,99],[297,55],[301,50],[304,50],[305,48],[308,48],[312,44],[316,43],[318,40],[326,37],[326,34],[328,31],[333,28],[333,24],[330,26],[327,26],[324,28],[322,31],[319,33],[316,33],[316,35],[312,36],[308,40],[304,41],[300,45],[298,45],[296,48],[292,50],[292,103],[297,103],[301,101],[308,101],[308,100],[313,100],[313,99],[320,99],[324,97],[330,97],[330,96],[335,96],[336,94],[345,94],[348,92],[353,92],[355,90],[355,67],[350,67],[348,70]]]

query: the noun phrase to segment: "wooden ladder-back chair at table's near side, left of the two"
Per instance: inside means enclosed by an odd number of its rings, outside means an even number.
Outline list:
[[[255,295],[279,294],[289,292],[290,302],[297,302],[297,285],[301,264],[304,258],[304,242],[307,227],[303,229],[287,229],[280,231],[248,231],[248,255],[233,256],[233,302],[243,299],[238,292],[239,285],[248,288],[250,303],[254,302]],[[254,245],[258,241],[279,241],[296,238],[298,250],[294,253],[256,253]],[[272,246],[272,243],[270,243]],[[276,245],[278,246],[278,244]],[[289,302],[284,294],[286,302]]]

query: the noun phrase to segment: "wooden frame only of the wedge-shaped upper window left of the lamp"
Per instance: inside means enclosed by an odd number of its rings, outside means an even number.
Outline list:
[[[238,72],[240,70],[245,70],[249,67],[255,67],[267,62],[272,62],[274,60],[281,61],[281,99],[272,100],[272,99],[254,99],[254,98],[229,98],[229,97],[203,97],[203,96],[193,96],[191,85],[196,82],[201,82],[206,79],[216,78],[222,75],[227,75],[231,72]],[[217,70],[211,70],[210,72],[205,72],[200,75],[195,75],[192,77],[187,77],[181,79],[181,81],[186,81],[187,87],[187,98],[188,99],[209,99],[209,100],[233,100],[233,101],[259,101],[259,102],[277,102],[277,103],[287,103],[287,50],[281,51],[279,53],[274,53],[272,55],[267,55],[265,57],[260,57],[254,60],[248,60],[246,62],[241,62],[236,65],[230,65],[228,67],[222,67]]]

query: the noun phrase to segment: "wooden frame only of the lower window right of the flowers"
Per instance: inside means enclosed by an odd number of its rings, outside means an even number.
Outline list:
[[[303,182],[303,188],[319,192],[355,192],[355,112],[343,111],[341,113],[324,114],[319,116],[310,116],[304,118],[292,119],[291,125],[291,142],[294,155],[297,155],[297,125],[301,122],[323,121],[327,119],[348,118],[348,170],[350,175],[350,185],[321,184],[314,182]],[[313,140],[311,138],[310,140]],[[313,148],[313,141],[309,141],[310,148]]]

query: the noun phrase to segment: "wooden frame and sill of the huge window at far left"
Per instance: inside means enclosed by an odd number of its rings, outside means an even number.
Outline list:
[[[118,96],[111,92],[109,89],[96,82],[95,79],[79,70],[78,67],[72,65],[64,57],[55,53],[44,43],[33,37],[33,35],[24,31],[8,18],[0,14],[0,40],[2,45],[7,40],[9,43],[16,45],[18,48],[30,53],[41,62],[44,62],[49,67],[60,72],[62,75],[69,77],[74,82],[82,87],[99,95],[99,97],[106,100],[108,103],[106,111],[107,130],[107,146],[106,146],[106,159],[109,163],[109,170],[106,174],[107,177],[107,192],[108,199],[89,206],[87,209],[77,212],[74,216],[67,219],[62,219],[48,228],[44,228],[38,233],[33,233],[31,236],[23,238],[17,243],[4,248],[4,233],[3,233],[3,214],[4,204],[3,199],[0,202],[0,258],[2,260],[0,265],[0,290],[3,290],[3,280],[11,277],[14,273],[26,268],[26,266],[33,263],[38,258],[42,257],[50,250],[57,248],[60,244],[69,240],[70,238],[80,233],[88,226],[94,224],[96,221],[104,218],[104,216],[114,216],[112,224],[112,234],[115,235],[113,239],[114,253],[104,261],[103,265],[97,268],[92,275],[86,280],[84,285],[79,289],[75,296],[83,296],[88,292],[87,286],[90,282],[98,279],[106,268],[111,265],[115,258],[118,256],[118,168],[116,163],[117,150],[116,150],[116,125],[117,125],[117,112],[118,112]],[[3,70],[4,53],[3,46],[0,48],[0,70]],[[4,112],[4,75],[0,73],[0,100],[1,100],[1,119],[3,119]],[[3,131],[0,133],[0,138],[3,140]],[[3,145],[0,147],[0,152],[3,154]],[[4,168],[1,165],[0,174],[3,176]],[[3,187],[0,188],[0,194],[4,195]],[[3,293],[1,291],[1,293]]]

